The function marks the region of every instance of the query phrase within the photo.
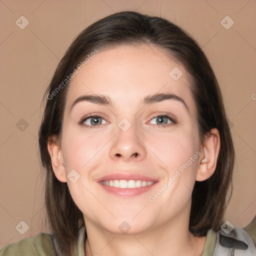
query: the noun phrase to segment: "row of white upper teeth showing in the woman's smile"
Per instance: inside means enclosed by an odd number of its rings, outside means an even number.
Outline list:
[[[114,179],[114,180],[103,180],[102,184],[106,186],[113,186],[119,188],[135,188],[142,186],[150,186],[154,181],[145,181],[145,180],[124,180],[124,179]]]

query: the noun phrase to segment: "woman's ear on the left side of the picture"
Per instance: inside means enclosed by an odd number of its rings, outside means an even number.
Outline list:
[[[48,138],[47,148],[51,157],[51,165],[56,178],[61,182],[66,182],[65,165],[61,147],[58,145],[57,136],[52,135]]]

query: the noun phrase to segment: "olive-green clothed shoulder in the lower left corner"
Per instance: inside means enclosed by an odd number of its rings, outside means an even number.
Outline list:
[[[0,256],[24,256],[24,255],[51,255],[55,256],[55,250],[50,234],[38,233],[34,237],[23,238],[17,243],[10,243],[0,249]]]

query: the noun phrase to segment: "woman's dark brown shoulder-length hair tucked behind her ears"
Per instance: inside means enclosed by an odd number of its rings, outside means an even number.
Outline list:
[[[203,236],[210,228],[215,231],[220,228],[228,202],[228,188],[232,191],[234,149],[220,88],[212,68],[195,40],[177,25],[164,18],[122,11],[94,22],[75,38],[60,60],[45,92],[47,101],[39,130],[40,156],[46,169],[45,204],[50,226],[63,255],[71,254],[78,229],[84,225],[82,212],[72,200],[67,184],[54,175],[47,150],[48,138],[61,133],[69,84],[66,81],[63,85],[63,81],[95,49],[143,43],[170,53],[192,77],[191,91],[197,108],[201,142],[211,128],[219,131],[221,143],[216,169],[207,180],[195,181],[189,230],[194,235]],[[63,86],[59,86],[61,83]],[[56,92],[57,87],[61,89]],[[56,93],[52,93],[54,90]]]

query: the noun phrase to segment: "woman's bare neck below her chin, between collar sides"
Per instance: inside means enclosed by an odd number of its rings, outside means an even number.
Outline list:
[[[157,229],[134,234],[110,233],[86,219],[85,256],[199,256],[206,236],[191,234],[188,221],[182,217],[178,216]]]

